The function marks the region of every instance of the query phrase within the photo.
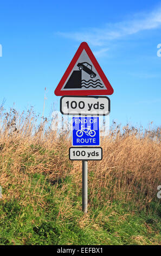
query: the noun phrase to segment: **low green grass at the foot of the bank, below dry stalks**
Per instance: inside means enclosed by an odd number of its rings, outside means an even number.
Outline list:
[[[20,196],[0,201],[1,245],[161,244],[158,201],[151,202],[148,209],[137,209],[135,202],[111,202],[106,199],[107,191],[102,191],[103,201],[95,192],[90,204],[89,190],[89,208],[84,215],[81,189],[73,175],[50,181],[46,174],[29,173],[26,184],[17,184],[16,189]]]

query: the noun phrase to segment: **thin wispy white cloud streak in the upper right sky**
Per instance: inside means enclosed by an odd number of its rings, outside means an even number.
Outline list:
[[[104,28],[88,28],[82,32],[59,32],[61,36],[76,41],[87,41],[94,46],[103,46],[108,41],[161,27],[161,7],[146,14],[136,14],[131,20],[108,23]]]

